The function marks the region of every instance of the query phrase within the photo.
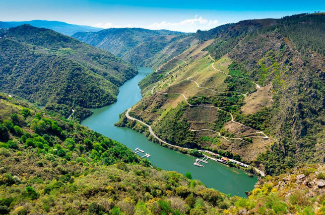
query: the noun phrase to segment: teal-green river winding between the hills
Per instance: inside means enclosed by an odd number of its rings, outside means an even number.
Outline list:
[[[245,191],[254,188],[256,176],[250,178],[240,169],[231,168],[212,160],[209,160],[209,164],[202,163],[205,167],[194,166],[196,158],[150,142],[144,134],[132,129],[114,126],[119,119],[118,115],[142,98],[138,83],[150,72],[152,70],[149,68],[139,67],[139,74],[119,88],[117,102],[100,109],[92,109],[94,114],[84,120],[82,125],[118,141],[132,150],[136,148],[144,150],[145,153],[151,155],[149,158],[151,163],[161,169],[177,171],[182,174],[190,172],[192,179],[201,180],[209,188],[215,188],[226,194],[246,197]]]

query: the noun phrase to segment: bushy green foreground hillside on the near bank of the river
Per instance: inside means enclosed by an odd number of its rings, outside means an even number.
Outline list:
[[[0,93],[1,214],[324,211],[324,166],[260,180],[248,199],[159,170],[125,146]]]

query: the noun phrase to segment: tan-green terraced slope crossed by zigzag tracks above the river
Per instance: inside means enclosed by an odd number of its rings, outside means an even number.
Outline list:
[[[144,89],[147,96],[134,106],[132,113],[151,123],[153,130],[168,140],[168,128],[177,130],[168,122],[171,120],[169,115],[173,109],[183,106],[178,112],[181,115],[179,120],[186,123],[179,129],[192,133],[195,138],[173,144],[231,151],[251,161],[270,145],[271,139],[265,138],[266,135],[259,130],[232,121],[233,111],[228,109],[239,109],[238,103],[250,96],[229,90],[225,80],[232,61],[224,56],[215,62],[207,51],[202,51],[211,42],[205,41],[189,48],[147,77],[160,80]],[[256,87],[252,82],[251,86]],[[220,98],[223,101],[216,103]],[[161,128],[161,125],[165,127]]]

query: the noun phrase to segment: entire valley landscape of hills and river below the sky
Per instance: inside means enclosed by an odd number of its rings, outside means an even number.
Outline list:
[[[0,22],[0,214],[325,213],[324,25]]]

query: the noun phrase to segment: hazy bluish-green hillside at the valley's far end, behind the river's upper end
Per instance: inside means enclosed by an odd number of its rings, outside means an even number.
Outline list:
[[[105,49],[133,65],[144,65],[144,61],[162,50],[168,43],[184,35],[167,30],[141,28],[112,28],[99,32],[78,32],[74,38]]]

